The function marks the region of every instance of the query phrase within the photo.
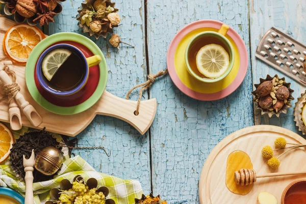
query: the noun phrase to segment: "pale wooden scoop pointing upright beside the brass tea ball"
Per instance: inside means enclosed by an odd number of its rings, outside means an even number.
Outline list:
[[[23,167],[25,171],[25,198],[24,204],[34,204],[34,195],[33,195],[33,171],[34,171],[34,163],[35,163],[35,154],[34,150],[32,150],[31,157],[29,159],[25,159],[23,155]]]

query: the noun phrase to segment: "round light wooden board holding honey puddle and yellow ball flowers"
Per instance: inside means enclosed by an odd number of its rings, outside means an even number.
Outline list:
[[[265,145],[274,148],[277,137],[286,138],[289,143],[306,144],[306,140],[296,133],[273,125],[256,125],[246,127],[224,138],[212,150],[207,158],[200,175],[199,199],[201,204],[231,204],[231,203],[256,203],[257,196],[262,191],[272,193],[278,203],[286,186],[291,182],[306,179],[306,174],[295,176],[278,176],[259,178],[253,189],[247,195],[237,195],[229,191],[225,185],[225,170],[227,156],[235,150],[245,151],[253,164],[257,174],[272,172],[296,172],[306,170],[306,149],[298,148],[290,151],[280,158],[281,166],[271,169],[267,160],[261,155]],[[277,156],[284,150],[274,151]]]

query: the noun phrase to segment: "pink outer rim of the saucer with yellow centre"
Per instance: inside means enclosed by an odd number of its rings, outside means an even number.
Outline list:
[[[248,54],[246,50],[246,46],[242,40],[242,38],[239,36],[239,34],[232,28],[228,30],[227,35],[233,39],[236,46],[238,47],[239,55],[240,55],[240,65],[239,70],[236,75],[236,78],[234,81],[228,85],[226,88],[222,89],[221,91],[215,92],[215,93],[200,93],[197,91],[194,91],[187,87],[179,78],[179,76],[176,73],[175,66],[174,66],[174,56],[176,52],[176,48],[183,40],[184,36],[186,36],[191,31],[194,31],[196,29],[200,28],[213,28],[213,29],[220,29],[221,25],[223,23],[216,20],[198,20],[193,23],[190,23],[186,25],[183,29],[181,29],[173,38],[171,41],[168,53],[167,53],[167,67],[170,74],[170,77],[175,84],[177,88],[179,88],[183,93],[186,95],[198,99],[198,100],[204,100],[204,101],[211,101],[211,100],[218,100],[221,98],[224,98],[231,93],[233,93],[243,82],[247,68],[248,68]]]

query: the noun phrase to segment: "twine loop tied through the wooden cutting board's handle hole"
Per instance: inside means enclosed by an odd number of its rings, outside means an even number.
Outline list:
[[[142,97],[142,92],[144,90],[147,90],[148,88],[151,87],[151,85],[155,82],[155,80],[159,77],[162,77],[163,75],[165,75],[166,73],[168,73],[168,68],[166,68],[165,70],[160,70],[159,72],[157,72],[156,74],[152,74],[150,73],[148,76],[147,76],[147,81],[142,83],[142,84],[139,84],[137,86],[134,86],[129,92],[127,92],[126,94],[126,99],[129,100],[130,98],[130,94],[132,93],[132,91],[134,91],[135,89],[137,89],[138,87],[141,87],[141,89],[139,90],[139,97],[138,97],[138,100],[137,100],[137,107],[136,107],[136,111],[134,112],[135,115],[138,115],[139,114],[139,107],[140,107],[140,100],[141,100],[141,97]]]

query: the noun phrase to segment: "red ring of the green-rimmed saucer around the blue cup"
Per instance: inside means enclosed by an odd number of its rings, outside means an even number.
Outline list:
[[[90,57],[94,55],[88,47],[78,42],[61,41],[55,44],[60,44],[60,43],[67,43],[74,45],[75,47],[78,47],[82,51],[82,53],[84,53],[85,57]],[[36,71],[34,71],[35,84],[39,93],[50,103],[61,107],[77,106],[79,104],[82,104],[84,101],[86,101],[96,90],[99,83],[99,78],[100,78],[99,75],[100,75],[100,68],[98,65],[90,67],[88,82],[82,90],[80,90],[78,93],[69,96],[57,96],[47,92],[40,86],[36,76]]]

